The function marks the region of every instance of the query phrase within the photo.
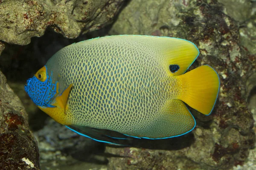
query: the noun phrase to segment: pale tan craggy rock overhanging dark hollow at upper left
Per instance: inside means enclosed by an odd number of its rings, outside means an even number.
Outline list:
[[[50,26],[67,38],[110,24],[124,0],[1,0],[0,40],[26,45]]]

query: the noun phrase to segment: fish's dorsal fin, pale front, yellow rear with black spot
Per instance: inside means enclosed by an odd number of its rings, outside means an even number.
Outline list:
[[[121,40],[120,40],[121,39]],[[125,41],[127,43],[137,43],[154,49],[154,54],[149,57],[156,57],[165,69],[166,73],[171,76],[184,74],[189,66],[199,55],[196,45],[188,40],[172,37],[157,37],[147,35],[114,35],[107,37],[97,37],[90,40],[78,42],[73,45],[84,45],[96,41]],[[174,71],[170,71],[170,65],[174,65]]]

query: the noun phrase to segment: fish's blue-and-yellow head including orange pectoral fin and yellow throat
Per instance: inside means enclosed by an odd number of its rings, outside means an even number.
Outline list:
[[[68,85],[59,93],[59,83],[54,82],[52,71],[47,66],[42,67],[36,74],[27,80],[25,91],[39,109],[51,116],[62,125],[70,125],[71,116],[67,117],[67,99],[73,84]]]

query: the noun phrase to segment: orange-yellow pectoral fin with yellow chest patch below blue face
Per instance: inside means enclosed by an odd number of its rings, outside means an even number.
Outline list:
[[[67,109],[67,99],[72,88],[73,84],[70,84],[64,91],[56,96],[55,101],[51,104],[56,106],[55,108],[47,108],[38,106],[42,111],[47,113],[52,117],[56,122],[62,125],[71,125],[71,118],[67,119],[66,109]]]

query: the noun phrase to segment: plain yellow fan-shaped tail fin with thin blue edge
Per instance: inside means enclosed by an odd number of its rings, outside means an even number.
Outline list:
[[[209,115],[220,88],[220,80],[216,71],[209,65],[203,65],[178,77],[183,86],[178,99],[186,102],[195,110]]]

